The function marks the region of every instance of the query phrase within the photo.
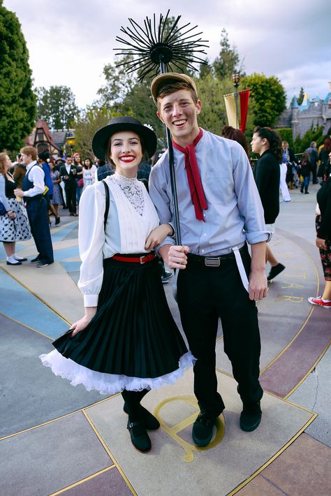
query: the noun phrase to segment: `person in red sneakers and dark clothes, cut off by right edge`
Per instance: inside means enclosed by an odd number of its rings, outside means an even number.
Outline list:
[[[331,152],[329,163],[331,163]],[[321,296],[308,298],[308,301],[311,305],[331,308],[331,174],[317,192],[317,203],[316,247],[320,251],[325,288]]]

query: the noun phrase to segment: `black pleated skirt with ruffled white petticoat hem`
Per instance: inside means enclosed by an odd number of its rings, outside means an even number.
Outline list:
[[[43,364],[102,393],[172,384],[193,356],[172,318],[157,261],[107,258],[103,269],[96,315],[81,333],[54,341],[57,351],[41,356]]]

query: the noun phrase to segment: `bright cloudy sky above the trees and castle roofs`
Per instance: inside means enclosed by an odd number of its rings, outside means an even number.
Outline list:
[[[80,108],[96,99],[103,66],[114,60],[115,37],[128,17],[182,15],[219,53],[221,29],[237,46],[244,69],[277,75],[288,99],[303,86],[325,98],[331,80],[331,1],[316,0],[3,0],[27,41],[34,85],[71,87]]]

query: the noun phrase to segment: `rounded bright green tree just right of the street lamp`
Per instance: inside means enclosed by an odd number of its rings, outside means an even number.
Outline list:
[[[286,92],[276,76],[253,73],[242,79],[242,87],[251,89],[253,124],[274,126],[277,117],[286,108]]]

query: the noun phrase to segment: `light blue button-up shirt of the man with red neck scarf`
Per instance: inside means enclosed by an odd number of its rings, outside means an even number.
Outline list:
[[[196,158],[207,200],[204,221],[196,219],[194,213],[184,154],[174,149],[182,244],[193,254],[217,256],[230,253],[232,247],[242,247],[246,241],[254,244],[269,240],[258,189],[242,146],[203,131]],[[173,226],[168,152],[152,168],[149,194],[161,223]],[[160,246],[166,244],[175,245],[175,240],[165,238]]]

